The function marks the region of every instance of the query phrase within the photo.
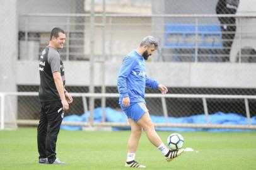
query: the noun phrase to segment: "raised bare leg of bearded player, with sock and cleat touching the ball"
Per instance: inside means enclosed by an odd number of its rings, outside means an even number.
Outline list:
[[[143,116],[141,116],[141,118],[137,121],[137,124],[143,127],[149,141],[155,147],[161,150],[163,156],[166,157],[166,161],[172,161],[173,158],[179,156],[184,151],[183,149],[170,150],[165,146],[165,144],[163,144],[158,133],[156,133],[156,130],[154,130],[154,124],[151,121],[148,111]]]

